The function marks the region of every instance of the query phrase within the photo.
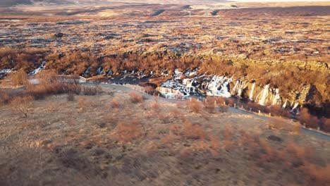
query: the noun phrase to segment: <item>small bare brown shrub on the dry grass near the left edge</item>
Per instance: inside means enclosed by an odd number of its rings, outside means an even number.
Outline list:
[[[32,109],[33,97],[16,97],[11,101],[11,110],[23,113],[27,118],[27,113]]]

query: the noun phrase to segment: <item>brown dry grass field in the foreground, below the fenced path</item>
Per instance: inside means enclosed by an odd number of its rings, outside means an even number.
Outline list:
[[[0,185],[329,185],[330,142],[289,120],[103,88],[0,108]]]

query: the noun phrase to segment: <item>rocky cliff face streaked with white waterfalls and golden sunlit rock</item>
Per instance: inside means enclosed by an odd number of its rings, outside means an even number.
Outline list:
[[[264,106],[281,106],[282,108],[298,109],[303,104],[314,100],[317,89],[313,85],[302,85],[299,90],[289,92],[287,97],[280,94],[281,87],[271,87],[271,84],[258,85],[255,80],[233,79],[233,77],[218,75],[194,75],[181,79],[182,75],[191,72],[179,72],[176,69],[173,78],[159,85],[159,92],[167,96],[205,94],[209,96],[240,97],[255,101]],[[197,73],[195,73],[197,74]],[[168,76],[168,74],[165,74]]]

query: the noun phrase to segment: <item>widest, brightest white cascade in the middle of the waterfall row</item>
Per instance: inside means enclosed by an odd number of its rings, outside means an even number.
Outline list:
[[[224,76],[214,76],[212,77],[211,82],[207,86],[209,91],[207,95],[209,96],[220,96],[220,97],[231,97],[229,92],[228,85],[231,82],[231,78],[228,79]]]

